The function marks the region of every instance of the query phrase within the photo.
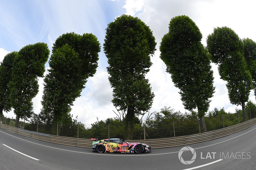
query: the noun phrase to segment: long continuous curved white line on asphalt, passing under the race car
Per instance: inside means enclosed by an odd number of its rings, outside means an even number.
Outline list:
[[[256,128],[254,128],[254,129],[256,129]],[[254,130],[254,129],[252,129],[252,130]],[[225,141],[216,143],[216,144],[220,144],[220,143],[227,142],[227,141],[229,141],[229,140],[235,139],[235,138],[240,137],[240,136],[242,136],[242,135],[244,135],[244,134],[246,134],[246,133],[251,132],[252,130],[250,130],[250,131],[248,131],[248,132],[245,132],[245,133],[243,133],[243,134],[241,134],[241,135],[239,135],[239,136],[233,137],[233,138],[231,138],[231,139],[228,139],[228,140],[225,140]],[[0,130],[0,132],[3,132],[3,131]],[[3,132],[3,133],[5,133],[5,132]],[[5,134],[10,135],[10,134],[8,134],[8,133],[5,133]],[[10,136],[12,136],[12,135],[10,135]],[[15,136],[12,136],[12,137],[15,137]],[[19,138],[19,137],[16,137],[16,138],[18,138],[18,139],[20,139],[20,140],[24,140],[24,141],[30,142],[30,141],[28,141],[28,140],[21,139],[21,138]],[[37,144],[37,143],[34,143],[34,142],[30,142],[30,143],[32,143],[32,144]],[[216,145],[216,144],[211,144],[211,145],[207,145],[207,146],[195,148],[194,150],[196,150],[196,149],[201,149],[201,148],[205,148],[205,147],[212,146],[212,145]],[[100,156],[107,156],[107,155],[108,155],[108,156],[151,156],[151,155],[164,155],[164,154],[171,154],[171,153],[179,153],[179,151],[177,151],[177,152],[168,152],[168,153],[135,154],[135,155],[134,155],[134,154],[132,154],[132,155],[131,155],[131,154],[125,154],[125,153],[124,153],[124,154],[99,154],[99,153],[87,153],[87,152],[70,151],[70,150],[60,149],[60,148],[54,148],[54,147],[46,146],[46,145],[42,145],[42,144],[37,144],[37,145],[45,146],[45,147],[52,148],[52,149],[58,149],[58,150],[62,150],[62,151],[76,152],[76,153],[85,153],[85,154],[100,155]]]

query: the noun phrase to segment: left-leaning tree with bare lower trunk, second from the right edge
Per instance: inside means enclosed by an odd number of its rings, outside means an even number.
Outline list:
[[[252,76],[244,58],[243,42],[232,29],[217,27],[208,35],[207,48],[212,62],[218,64],[221,79],[227,81],[230,103],[242,105],[243,121],[246,121],[245,102],[252,89]]]

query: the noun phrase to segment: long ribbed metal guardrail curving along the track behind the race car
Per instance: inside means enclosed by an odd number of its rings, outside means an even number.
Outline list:
[[[243,129],[249,128],[255,124],[256,124],[256,118],[249,120],[247,122],[243,122],[234,126],[224,128],[224,129],[214,130],[214,131],[205,132],[205,133],[196,134],[196,135],[171,137],[171,138],[163,138],[163,139],[129,140],[129,142],[149,144],[152,149],[182,146],[182,145],[196,144],[196,143],[224,137],[224,136],[239,132]],[[64,144],[69,146],[92,148],[92,141],[90,139],[61,137],[61,136],[42,134],[42,133],[32,132],[28,130],[19,129],[19,128],[14,128],[12,126],[5,125],[2,123],[0,123],[0,128],[6,129],[8,131],[11,131],[13,133],[17,133],[26,137],[31,137],[31,138],[46,141],[46,142]]]

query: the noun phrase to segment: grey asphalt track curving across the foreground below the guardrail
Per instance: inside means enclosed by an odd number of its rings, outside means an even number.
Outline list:
[[[0,169],[256,169],[256,125],[187,146],[195,152],[180,152],[186,146],[179,146],[152,149],[145,154],[95,153],[89,148],[39,141],[0,128]]]

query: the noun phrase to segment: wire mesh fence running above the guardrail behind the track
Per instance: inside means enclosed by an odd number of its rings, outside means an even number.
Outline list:
[[[249,108],[246,110],[247,120],[256,117],[256,108]],[[236,125],[243,121],[242,110],[237,110],[236,113],[225,113],[220,110],[218,113],[209,113],[205,116],[205,123],[207,131],[226,128]],[[1,116],[1,122],[14,126],[15,119],[7,116]],[[30,130],[34,132],[51,134],[64,137],[75,138],[125,138],[126,130],[124,123],[120,121],[98,121],[93,124],[83,124],[79,122],[52,124],[43,123],[26,123],[20,122],[21,129]],[[200,123],[196,116],[189,117],[172,117],[169,119],[162,119],[134,125],[133,140],[141,139],[158,139],[168,137],[180,137],[201,133]]]

